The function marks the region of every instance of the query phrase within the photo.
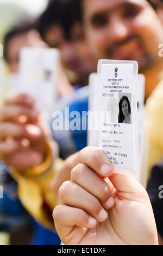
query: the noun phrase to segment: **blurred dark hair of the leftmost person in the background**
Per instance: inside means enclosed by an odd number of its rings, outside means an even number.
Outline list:
[[[36,21],[23,20],[19,21],[14,25],[10,31],[4,36],[3,40],[3,56],[4,59],[8,62],[8,44],[9,41],[14,38],[16,35],[21,35],[29,32],[32,29],[36,29]]]

